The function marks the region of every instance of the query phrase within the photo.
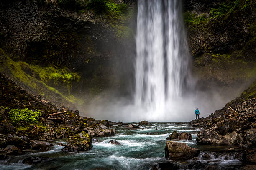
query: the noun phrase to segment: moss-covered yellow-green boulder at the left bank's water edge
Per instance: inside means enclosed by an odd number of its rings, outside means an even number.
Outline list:
[[[87,151],[92,148],[92,139],[86,132],[81,132],[67,140],[68,151]]]

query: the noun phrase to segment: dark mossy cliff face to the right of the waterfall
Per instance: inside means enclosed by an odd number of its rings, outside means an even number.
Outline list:
[[[256,78],[255,0],[185,0],[194,72],[232,87]],[[249,84],[248,83],[248,84]]]

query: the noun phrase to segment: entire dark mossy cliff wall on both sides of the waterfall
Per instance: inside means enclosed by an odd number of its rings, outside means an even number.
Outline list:
[[[128,95],[137,0],[95,2],[0,2],[0,71],[58,105],[111,88]],[[255,0],[184,0],[197,87],[230,93],[256,78],[255,9]]]

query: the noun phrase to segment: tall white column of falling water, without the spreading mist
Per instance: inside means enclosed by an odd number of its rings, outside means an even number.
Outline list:
[[[182,0],[138,0],[135,105],[151,119],[172,110],[187,85],[190,55],[182,15]]]

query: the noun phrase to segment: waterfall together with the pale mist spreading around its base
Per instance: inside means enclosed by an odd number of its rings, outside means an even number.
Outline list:
[[[235,97],[223,96],[218,87],[201,91],[195,86],[182,15],[181,0],[138,0],[134,98],[98,96],[85,108],[86,116],[123,122],[190,121],[196,108],[206,117]]]

